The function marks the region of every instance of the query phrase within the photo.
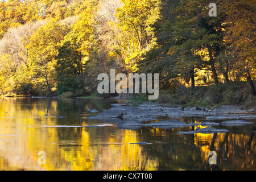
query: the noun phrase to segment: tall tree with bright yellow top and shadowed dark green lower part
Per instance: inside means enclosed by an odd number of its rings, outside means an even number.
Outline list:
[[[97,35],[94,31],[94,18],[92,9],[87,7],[86,10],[79,15],[77,21],[72,24],[72,29],[65,37],[59,53],[56,57],[57,65],[57,90],[59,93],[74,91],[77,89],[75,79],[80,77],[77,85],[84,90],[83,82],[86,81],[85,69],[89,70],[88,61],[92,52],[98,48]],[[89,72],[89,77],[92,73]],[[95,82],[96,83],[96,82]],[[82,86],[81,86],[82,85]],[[82,87],[82,88],[81,88]]]

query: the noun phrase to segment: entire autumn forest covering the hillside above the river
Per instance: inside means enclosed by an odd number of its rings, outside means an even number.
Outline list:
[[[0,95],[105,98],[115,69],[159,73],[159,102],[255,106],[255,1],[210,3],[2,0]]]

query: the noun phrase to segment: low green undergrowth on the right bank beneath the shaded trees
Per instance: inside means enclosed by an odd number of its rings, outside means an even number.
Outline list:
[[[255,106],[255,96],[250,94],[250,85],[247,82],[226,82],[210,86],[197,86],[191,91],[190,88],[180,88],[174,94],[167,92],[159,93],[159,102],[186,106],[217,105],[245,105]],[[164,98],[164,99],[163,99]]]

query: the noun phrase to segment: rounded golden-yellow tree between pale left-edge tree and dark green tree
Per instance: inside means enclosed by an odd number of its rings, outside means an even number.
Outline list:
[[[52,84],[50,80],[55,78],[49,77],[49,74],[55,71],[54,65],[56,64],[55,57],[57,56],[58,49],[60,48],[61,40],[68,33],[68,27],[52,20],[43,27],[40,27],[30,39],[30,44],[27,48],[28,56],[31,64],[36,68],[39,77],[44,77],[47,85],[47,90],[51,93]],[[50,74],[51,75],[51,74]]]

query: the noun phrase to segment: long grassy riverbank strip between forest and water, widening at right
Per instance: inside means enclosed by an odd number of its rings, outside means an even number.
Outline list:
[[[256,84],[256,82],[255,82]],[[88,96],[73,97],[72,92],[65,92],[59,96],[9,96],[31,98],[76,98],[76,99],[107,99],[122,100],[131,105],[154,103],[166,107],[205,107],[213,110],[223,105],[234,105],[242,108],[255,109],[256,96],[250,93],[250,85],[245,81],[226,82],[208,86],[189,88],[176,86],[169,90],[160,90],[158,100],[148,100],[147,94],[98,94],[94,92]]]

